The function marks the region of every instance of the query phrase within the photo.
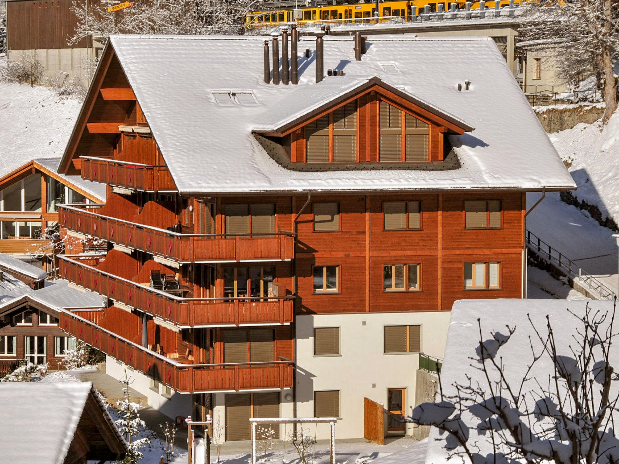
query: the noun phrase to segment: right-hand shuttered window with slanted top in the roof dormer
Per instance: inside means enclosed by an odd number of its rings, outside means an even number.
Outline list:
[[[404,132],[402,132],[404,127]],[[429,126],[384,100],[379,104],[379,161],[428,161]]]

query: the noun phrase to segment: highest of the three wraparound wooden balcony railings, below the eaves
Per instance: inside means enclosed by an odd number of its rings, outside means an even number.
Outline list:
[[[97,214],[103,205],[61,205],[67,229],[175,262],[287,261],[294,257],[290,232],[276,234],[181,234]]]

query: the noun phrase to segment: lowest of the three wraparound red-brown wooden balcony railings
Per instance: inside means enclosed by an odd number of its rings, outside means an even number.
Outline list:
[[[60,312],[59,326],[97,350],[168,385],[176,392],[203,393],[285,389],[293,384],[293,361],[239,364],[181,364],[118,337],[109,330],[67,311]]]

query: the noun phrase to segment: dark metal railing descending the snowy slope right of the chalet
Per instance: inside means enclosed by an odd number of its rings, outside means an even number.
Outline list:
[[[608,286],[528,229],[526,230],[526,244],[540,259],[564,272],[568,278],[578,281],[582,288],[591,294],[592,298],[598,296],[599,298],[596,299],[613,299],[615,297],[615,292],[610,290]]]

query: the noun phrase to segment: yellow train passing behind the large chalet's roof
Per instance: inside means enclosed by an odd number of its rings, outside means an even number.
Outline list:
[[[509,6],[508,0],[498,0],[499,7]],[[404,21],[410,21],[415,11],[415,15],[420,15],[425,12],[424,7],[429,7],[428,12],[435,13],[439,11],[439,5],[443,4],[444,11],[448,11],[451,4],[454,2],[443,1],[436,2],[431,0],[391,0],[379,3],[379,22],[387,21],[390,17],[402,18]],[[465,9],[466,3],[462,1],[455,2],[456,9]],[[495,8],[495,0],[487,1],[485,8]],[[514,1],[514,6],[520,4],[520,1]],[[416,9],[413,8],[416,7]],[[479,9],[479,1],[471,2],[471,9]],[[313,21],[326,22],[326,24],[346,24],[350,22],[374,22],[376,16],[376,5],[371,3],[353,3],[348,5],[337,6],[316,6],[316,7],[297,7],[290,9],[280,9],[272,11],[253,11],[249,12],[245,17],[246,28],[265,27],[282,23],[295,22],[298,25],[304,25]]]

